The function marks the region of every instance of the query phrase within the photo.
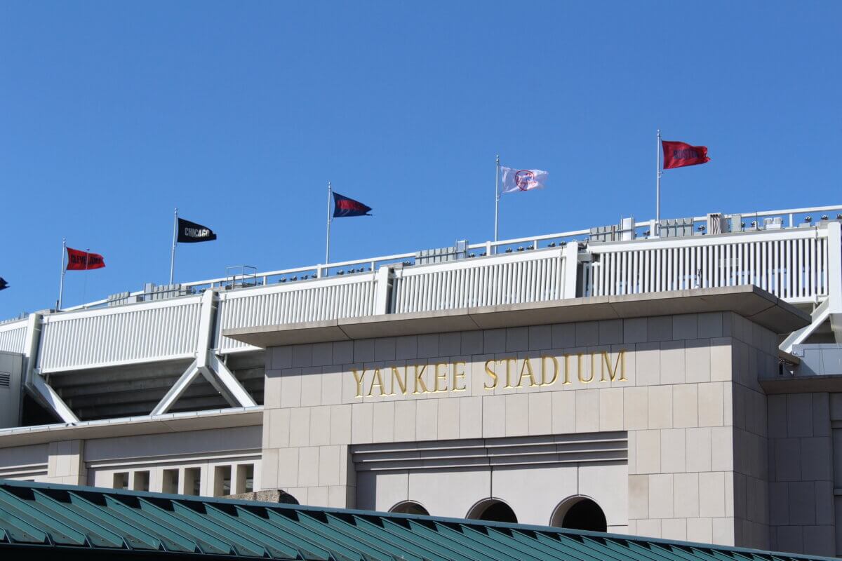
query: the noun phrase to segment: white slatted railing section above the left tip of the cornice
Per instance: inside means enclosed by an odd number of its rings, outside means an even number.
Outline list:
[[[375,293],[375,273],[221,292],[215,347],[221,353],[254,349],[221,336],[226,329],[373,315]]]

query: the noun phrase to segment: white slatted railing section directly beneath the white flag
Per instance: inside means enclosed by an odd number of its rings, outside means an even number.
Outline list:
[[[561,299],[564,278],[560,249],[398,269],[392,283],[392,313]]]

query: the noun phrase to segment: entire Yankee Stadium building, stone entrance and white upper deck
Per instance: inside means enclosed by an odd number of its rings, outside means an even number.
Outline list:
[[[31,314],[0,325],[0,477],[842,553],[840,211]]]

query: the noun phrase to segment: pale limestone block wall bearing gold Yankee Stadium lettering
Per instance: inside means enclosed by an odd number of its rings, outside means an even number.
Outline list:
[[[766,368],[775,336],[731,313],[274,347],[263,486],[354,506],[358,445],[626,431],[626,486],[605,483],[626,511],[606,511],[610,526],[766,547]]]

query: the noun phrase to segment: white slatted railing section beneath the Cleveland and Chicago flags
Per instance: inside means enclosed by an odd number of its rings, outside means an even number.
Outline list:
[[[45,315],[41,373],[194,357],[201,296]]]

